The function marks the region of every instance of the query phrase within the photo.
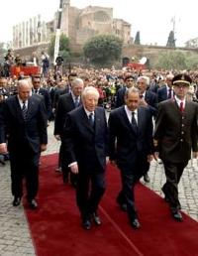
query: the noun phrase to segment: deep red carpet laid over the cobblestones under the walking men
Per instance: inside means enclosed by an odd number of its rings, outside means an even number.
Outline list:
[[[164,200],[141,184],[136,188],[136,204],[142,228],[129,225],[127,213],[115,202],[120,174],[111,166],[99,208],[102,225],[82,229],[75,191],[54,172],[57,155],[42,157],[41,162],[39,208],[30,210],[25,203],[38,256],[198,255],[198,223],[184,213],[183,222],[174,221]]]

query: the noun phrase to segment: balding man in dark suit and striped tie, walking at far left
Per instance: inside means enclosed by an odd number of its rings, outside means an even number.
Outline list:
[[[28,80],[19,80],[18,94],[2,103],[0,153],[9,151],[10,154],[13,205],[21,202],[25,177],[26,197],[31,208],[35,209],[38,207],[35,197],[39,190],[39,159],[41,152],[47,149],[48,135],[44,103],[40,98],[30,96],[31,89]]]

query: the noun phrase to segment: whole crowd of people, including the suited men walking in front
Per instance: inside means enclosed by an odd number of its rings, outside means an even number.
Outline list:
[[[75,188],[84,229],[91,228],[91,219],[102,223],[98,205],[107,164],[120,170],[122,189],[115,201],[131,226],[141,227],[134,189],[142,177],[149,183],[152,159],[164,166],[161,190],[172,218],[182,221],[178,184],[198,152],[197,86],[198,71],[191,70],[73,66],[49,68],[47,75],[1,76],[0,154],[10,160],[13,205],[21,203],[26,179],[27,201],[38,207],[40,156],[54,120],[53,134],[61,142],[54,171]]]

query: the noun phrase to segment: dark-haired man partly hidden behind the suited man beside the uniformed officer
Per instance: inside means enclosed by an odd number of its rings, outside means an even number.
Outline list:
[[[123,106],[125,104],[125,92],[128,88],[134,86],[134,76],[127,75],[124,79],[125,84],[120,88],[116,94],[115,108]]]

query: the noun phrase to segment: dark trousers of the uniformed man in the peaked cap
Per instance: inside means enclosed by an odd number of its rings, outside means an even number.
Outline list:
[[[172,213],[177,211],[178,206],[180,205],[178,199],[178,184],[187,164],[188,161],[181,163],[170,163],[163,161],[166,183],[163,185],[162,191],[168,198],[169,208]]]

